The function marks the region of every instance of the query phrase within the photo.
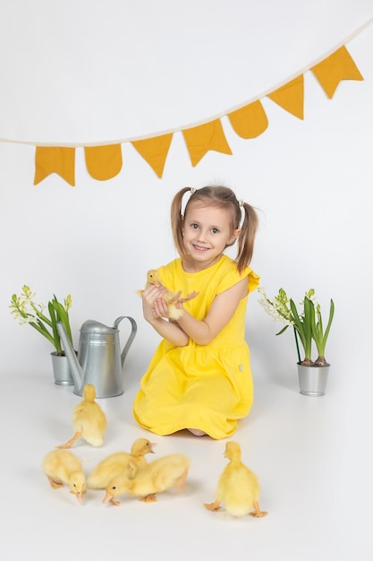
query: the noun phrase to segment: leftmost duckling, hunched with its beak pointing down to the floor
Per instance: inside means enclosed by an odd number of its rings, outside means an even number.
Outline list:
[[[69,450],[53,450],[47,453],[42,462],[51,488],[58,489],[68,485],[70,492],[81,503],[86,490],[86,476],[81,461]]]

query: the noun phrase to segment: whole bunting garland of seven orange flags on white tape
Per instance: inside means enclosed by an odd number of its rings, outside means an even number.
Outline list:
[[[157,177],[161,178],[176,133],[182,133],[193,167],[197,166],[208,151],[232,155],[233,152],[225,138],[222,118],[227,117],[233,131],[243,139],[257,138],[267,130],[268,119],[260,99],[271,99],[293,117],[303,119],[304,73],[307,71],[314,74],[328,99],[333,98],[338,84],[343,80],[364,80],[352,56],[343,45],[318,64],[309,65],[284,85],[276,87],[273,91],[267,91],[258,99],[250,100],[241,107],[229,109],[218,117],[210,117],[196,125],[182,126],[162,134],[148,135],[142,139],[123,139],[106,142],[104,145],[97,142],[82,146],[88,173],[97,181],[106,181],[118,175],[123,167],[122,144],[131,143]],[[81,147],[81,144],[37,145],[34,185],[38,185],[50,174],[55,173],[63,177],[69,185],[75,186],[75,150],[78,147]]]

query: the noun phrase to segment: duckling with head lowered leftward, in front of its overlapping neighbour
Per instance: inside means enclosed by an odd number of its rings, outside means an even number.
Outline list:
[[[103,503],[120,505],[114,497],[123,493],[140,496],[140,501],[144,503],[156,503],[157,493],[174,487],[183,488],[190,465],[191,461],[186,455],[174,453],[149,462],[133,479],[117,475],[106,486]]]

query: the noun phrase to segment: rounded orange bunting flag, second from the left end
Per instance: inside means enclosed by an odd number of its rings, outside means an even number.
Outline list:
[[[121,144],[85,146],[84,154],[90,177],[106,181],[117,176],[122,169]]]

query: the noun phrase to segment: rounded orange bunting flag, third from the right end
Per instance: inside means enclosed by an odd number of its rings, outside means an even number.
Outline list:
[[[242,138],[256,138],[264,133],[268,119],[260,101],[254,101],[244,108],[228,113],[233,130]]]

